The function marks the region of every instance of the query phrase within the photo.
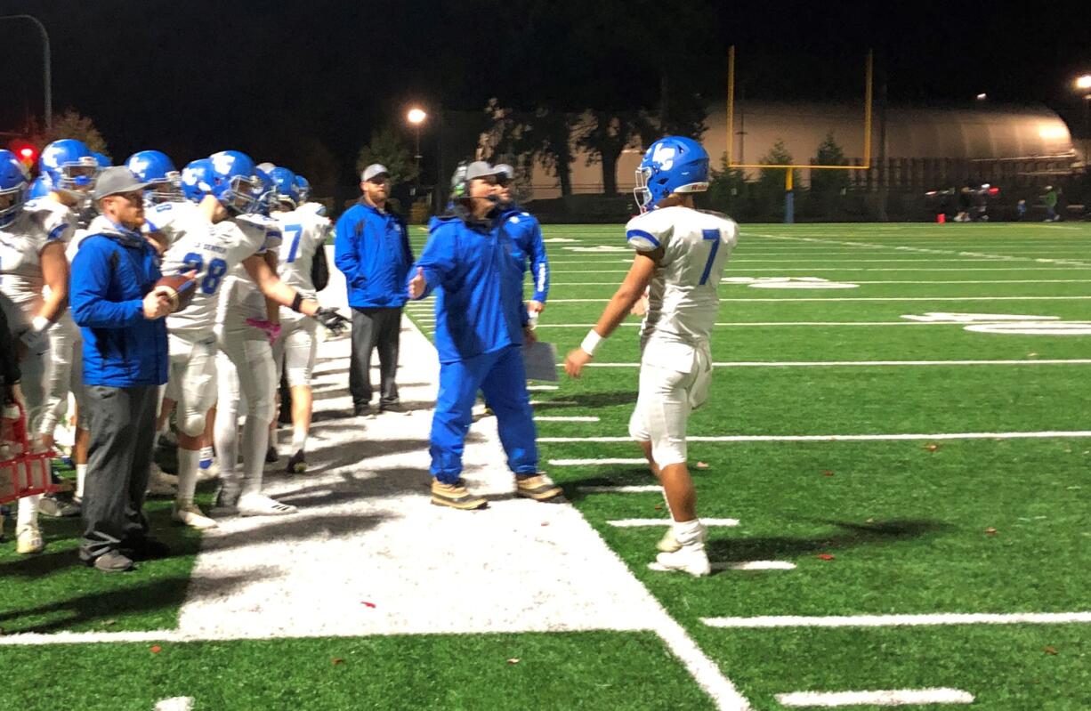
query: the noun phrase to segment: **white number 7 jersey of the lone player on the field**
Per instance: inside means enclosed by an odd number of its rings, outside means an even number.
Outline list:
[[[634,217],[625,237],[637,252],[663,249],[648,291],[640,340],[698,346],[708,341],[720,308],[717,289],[739,241],[739,226],[724,215],[663,207]]]

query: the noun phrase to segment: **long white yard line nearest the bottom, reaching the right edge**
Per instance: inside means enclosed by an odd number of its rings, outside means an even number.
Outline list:
[[[939,625],[1068,625],[1091,623],[1091,612],[1054,613],[936,613],[930,615],[852,615],[806,617],[702,617],[709,627],[732,629],[767,627],[933,627]]]

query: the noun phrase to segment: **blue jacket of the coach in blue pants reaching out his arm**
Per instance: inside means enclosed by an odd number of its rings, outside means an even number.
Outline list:
[[[523,345],[527,309],[518,249],[496,220],[477,221],[459,208],[432,218],[419,267],[436,290],[435,348],[441,363]]]

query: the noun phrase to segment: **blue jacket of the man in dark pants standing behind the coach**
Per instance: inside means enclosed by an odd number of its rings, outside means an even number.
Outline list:
[[[345,210],[334,229],[334,263],[345,275],[348,305],[404,306],[412,264],[405,221],[361,202]]]

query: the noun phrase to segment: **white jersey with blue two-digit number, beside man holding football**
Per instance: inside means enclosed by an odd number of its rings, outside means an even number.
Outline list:
[[[201,230],[196,220],[190,220],[185,231],[163,255],[164,274],[197,273],[193,300],[183,311],[167,317],[167,329],[190,340],[212,336],[223,292],[230,289],[231,275],[236,270],[245,274],[242,261],[266,250],[267,236],[263,229],[243,229],[235,220],[213,225],[204,219],[204,225]]]

